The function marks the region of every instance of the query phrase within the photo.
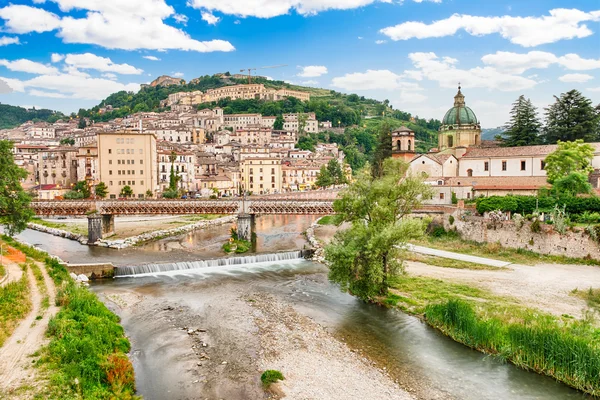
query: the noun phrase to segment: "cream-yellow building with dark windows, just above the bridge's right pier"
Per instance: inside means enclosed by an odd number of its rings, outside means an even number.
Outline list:
[[[281,193],[281,159],[249,157],[240,162],[242,187],[254,194]]]

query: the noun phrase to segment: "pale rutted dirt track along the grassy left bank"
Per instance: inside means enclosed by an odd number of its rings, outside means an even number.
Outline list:
[[[54,283],[48,276],[45,266],[42,263],[36,263],[44,275],[50,307],[42,309],[42,300],[46,295],[40,291],[31,268],[28,268],[27,276],[31,285],[33,308],[4,346],[0,348],[0,394],[5,394],[7,398],[11,398],[12,395],[14,398],[21,399],[24,394],[13,393],[15,389],[23,385],[36,385],[36,370],[32,368],[30,355],[46,344],[45,332],[48,321],[58,311],[58,307],[55,306]],[[39,315],[42,318],[38,320],[36,318]]]

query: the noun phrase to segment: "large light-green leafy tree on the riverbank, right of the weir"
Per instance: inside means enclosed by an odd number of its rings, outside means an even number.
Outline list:
[[[408,214],[431,198],[431,187],[408,170],[401,160],[385,160],[379,177],[361,171],[334,202],[338,220],[351,225],[325,247],[329,279],[363,300],[387,293],[402,271],[404,244],[423,234],[422,221]]]

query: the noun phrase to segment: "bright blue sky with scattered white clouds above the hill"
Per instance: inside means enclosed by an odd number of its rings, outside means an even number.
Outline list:
[[[520,96],[600,103],[600,0],[0,0],[0,102],[70,113],[160,75],[258,69],[484,128]]]

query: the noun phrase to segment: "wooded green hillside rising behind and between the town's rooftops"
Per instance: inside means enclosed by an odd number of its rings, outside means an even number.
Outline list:
[[[441,125],[439,120],[414,118],[410,113],[394,110],[387,100],[382,102],[357,94],[290,85],[283,81],[258,77],[254,78],[253,82],[262,83],[268,88],[289,88],[310,92],[311,99],[307,102],[300,101],[295,97],[288,97],[280,101],[223,99],[218,102],[200,104],[198,109],[218,106],[223,108],[225,114],[260,113],[269,116],[314,112],[317,120],[331,121],[337,129],[306,135],[300,138],[299,147],[312,149],[319,142],[338,143],[344,150],[348,163],[355,171],[371,160],[377,146],[379,129],[383,123],[387,123],[392,129],[405,125],[414,130],[418,152],[426,152],[437,145],[437,130]],[[243,83],[247,83],[247,81],[233,79],[229,76],[207,75],[180,86],[149,86],[142,88],[138,93],[117,92],[90,110],[79,110],[79,116],[89,117],[95,121],[108,121],[140,111],[165,111],[160,108],[160,102],[171,93],[206,91]],[[106,105],[118,109],[100,114],[100,108]],[[383,117],[384,115],[385,117]]]

